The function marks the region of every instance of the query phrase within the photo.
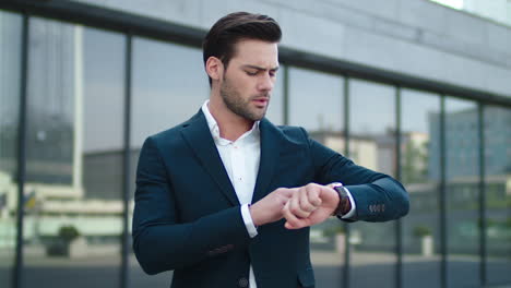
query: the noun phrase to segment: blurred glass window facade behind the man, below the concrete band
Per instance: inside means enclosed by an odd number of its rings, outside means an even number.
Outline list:
[[[0,287],[168,287],[131,250],[134,171],[209,97],[200,34],[45,13],[0,10]],[[401,220],[312,227],[317,287],[511,285],[510,99],[283,56],[266,117],[411,197]]]

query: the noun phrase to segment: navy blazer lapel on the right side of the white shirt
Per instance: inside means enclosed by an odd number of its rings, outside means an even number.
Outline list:
[[[280,131],[265,118],[259,123],[259,130],[261,135],[261,160],[252,203],[258,202],[271,192],[268,191],[268,187],[275,173],[281,147]]]

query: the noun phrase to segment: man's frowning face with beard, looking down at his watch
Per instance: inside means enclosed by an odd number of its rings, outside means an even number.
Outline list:
[[[239,117],[259,121],[266,113],[278,69],[275,43],[246,39],[236,44],[221,82],[226,107]]]

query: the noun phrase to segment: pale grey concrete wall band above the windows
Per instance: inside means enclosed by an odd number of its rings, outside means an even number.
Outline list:
[[[511,27],[427,0],[78,0],[207,29],[265,13],[282,45],[511,97]]]

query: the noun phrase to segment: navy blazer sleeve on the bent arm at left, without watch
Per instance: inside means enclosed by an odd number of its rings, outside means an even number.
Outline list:
[[[240,206],[179,223],[176,204],[158,147],[148,137],[136,169],[132,224],[133,250],[145,273],[191,266],[248,243]]]

